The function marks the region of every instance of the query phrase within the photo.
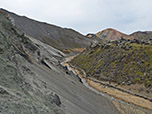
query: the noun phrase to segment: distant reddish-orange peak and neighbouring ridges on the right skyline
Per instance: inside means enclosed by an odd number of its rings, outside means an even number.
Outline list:
[[[130,35],[127,35],[122,32],[119,32],[118,30],[108,28],[96,34],[87,34],[87,37],[100,38],[102,40],[110,40],[110,41],[119,40],[119,39],[126,39],[126,40],[136,39],[142,42],[152,43],[152,31],[143,31],[143,32],[138,31]]]

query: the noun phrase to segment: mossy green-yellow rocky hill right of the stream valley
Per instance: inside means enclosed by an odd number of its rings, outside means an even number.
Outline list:
[[[138,40],[102,40],[71,63],[85,70],[88,77],[124,85],[144,84],[152,90],[152,44]]]

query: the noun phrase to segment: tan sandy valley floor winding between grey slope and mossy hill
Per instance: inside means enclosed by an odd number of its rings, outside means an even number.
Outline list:
[[[85,72],[83,70],[80,70],[79,68],[76,68],[69,64],[69,62],[74,58],[75,56],[68,57],[66,58],[65,62],[63,62],[63,66],[68,66],[71,67],[72,70],[86,83],[94,88],[95,90],[108,94],[112,96],[112,102],[113,104],[117,107],[117,109],[122,113],[129,113],[129,114],[151,114],[152,113],[152,102],[149,100],[145,100],[143,98],[119,91],[115,88],[111,88],[109,86],[105,86],[109,82],[101,82],[96,79],[91,79],[91,78],[85,78]],[[102,85],[105,84],[105,85]],[[109,84],[108,84],[109,85]],[[111,86],[113,86],[113,83],[110,83]],[[121,89],[126,89],[121,87]],[[113,100],[113,97],[118,99],[118,101],[123,101],[123,102],[118,102],[117,100]],[[151,97],[151,96],[150,96]],[[124,103],[125,102],[125,103]]]

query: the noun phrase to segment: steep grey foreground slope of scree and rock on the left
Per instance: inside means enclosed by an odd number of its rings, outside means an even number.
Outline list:
[[[0,14],[0,114],[117,114],[111,101],[58,67],[65,56]]]

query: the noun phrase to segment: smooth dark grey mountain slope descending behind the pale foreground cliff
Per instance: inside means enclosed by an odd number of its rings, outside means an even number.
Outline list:
[[[8,15],[12,23],[26,35],[58,49],[84,48],[89,46],[92,41],[72,29],[38,22],[4,9],[0,9],[0,11]]]

